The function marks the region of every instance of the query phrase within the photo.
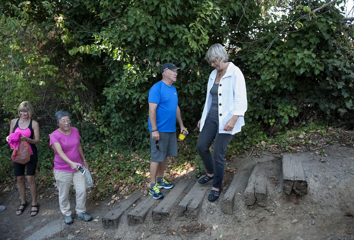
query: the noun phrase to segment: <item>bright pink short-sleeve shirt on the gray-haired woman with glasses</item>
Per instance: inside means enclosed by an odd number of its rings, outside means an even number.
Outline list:
[[[81,136],[76,127],[70,128],[70,135],[65,135],[64,133],[59,132],[58,129],[52,132],[49,137],[49,145],[50,147],[52,147],[53,143],[60,143],[65,155],[67,155],[67,157],[73,162],[77,162],[78,165],[82,165],[82,161],[79,154]],[[53,147],[52,149],[54,150]],[[63,159],[60,158],[60,156],[58,155],[58,153],[55,152],[55,150],[54,154],[54,170],[61,172],[75,172],[75,170],[71,169],[69,164],[67,164]]]

